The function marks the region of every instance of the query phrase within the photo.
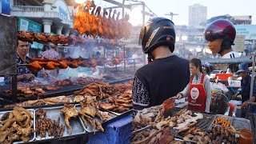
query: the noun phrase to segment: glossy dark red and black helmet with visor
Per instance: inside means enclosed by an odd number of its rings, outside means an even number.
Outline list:
[[[204,37],[206,41],[214,41],[218,38],[223,38],[221,50],[218,54],[226,48],[231,48],[234,45],[234,38],[236,35],[236,30],[232,22],[225,19],[218,19],[210,25],[206,26]]]

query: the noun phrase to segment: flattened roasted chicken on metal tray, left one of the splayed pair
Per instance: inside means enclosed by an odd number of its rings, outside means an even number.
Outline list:
[[[74,105],[70,104],[64,104],[64,107],[61,110],[62,114],[65,115],[65,123],[66,126],[70,128],[70,135],[73,132],[72,126],[70,126],[70,118],[75,118],[78,116],[78,110],[74,107]]]

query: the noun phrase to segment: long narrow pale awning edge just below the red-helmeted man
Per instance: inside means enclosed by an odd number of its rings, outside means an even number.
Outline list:
[[[240,58],[202,58],[202,63],[210,63],[210,64],[233,64],[233,63],[252,63],[253,60],[251,56],[245,56]]]

